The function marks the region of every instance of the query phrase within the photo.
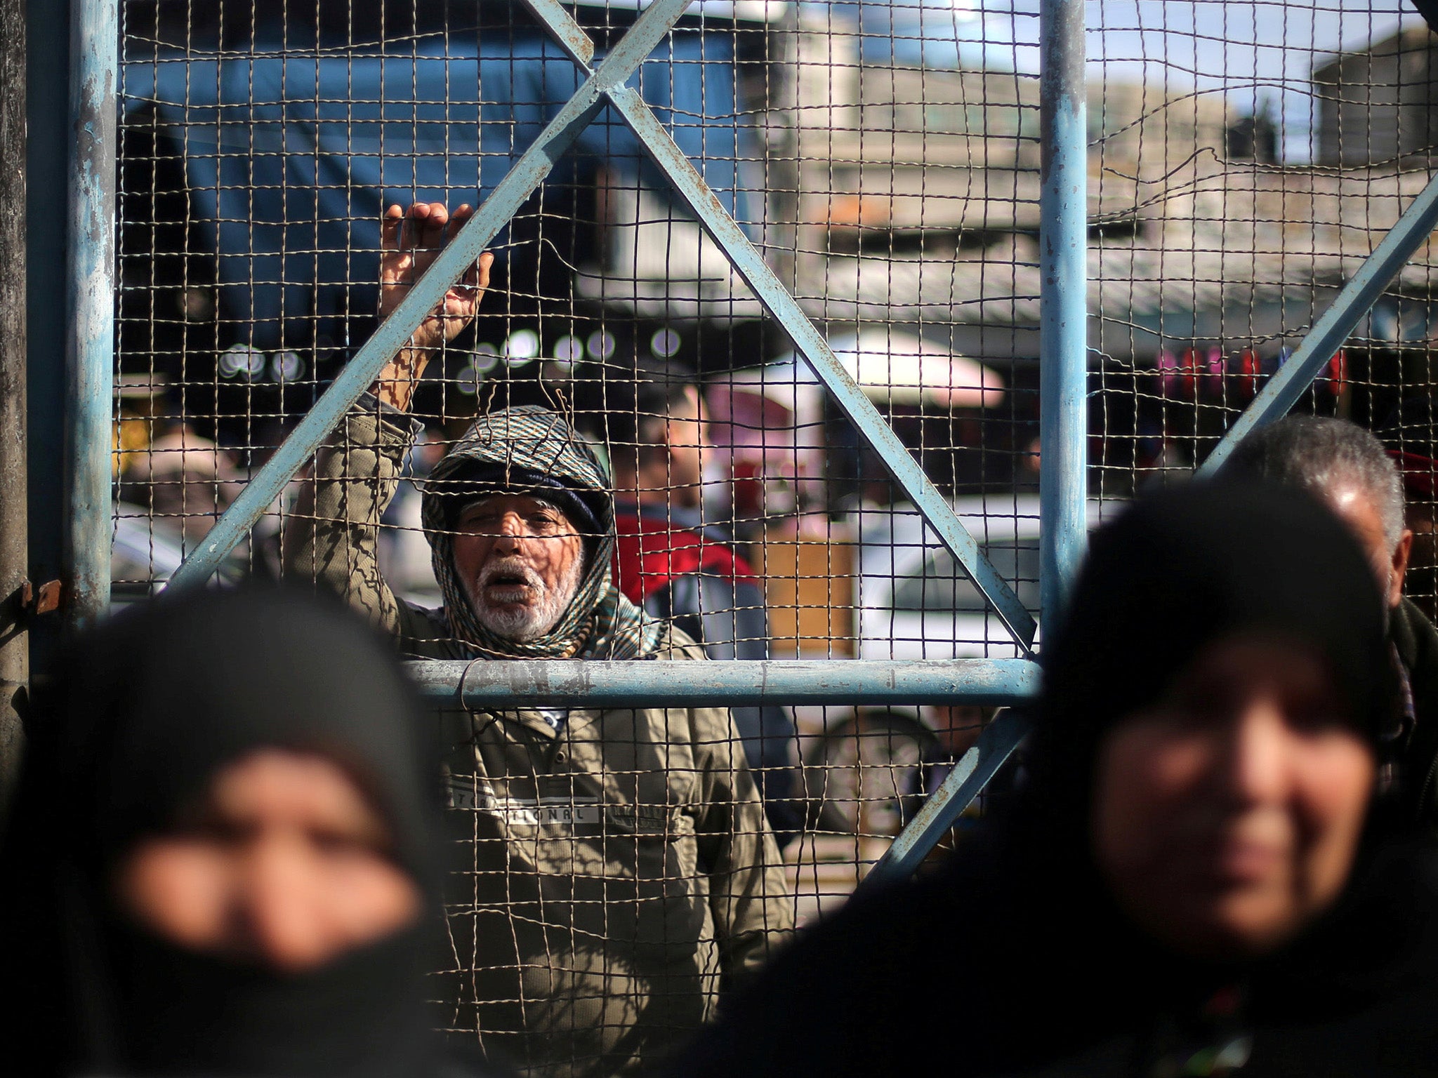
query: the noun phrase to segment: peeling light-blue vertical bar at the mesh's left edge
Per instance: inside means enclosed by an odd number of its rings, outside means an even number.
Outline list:
[[[70,3],[65,319],[65,615],[109,607],[115,381],[116,0]]]

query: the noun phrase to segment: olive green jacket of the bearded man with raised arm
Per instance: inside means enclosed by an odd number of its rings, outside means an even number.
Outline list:
[[[469,653],[443,614],[400,601],[378,572],[380,517],[411,438],[372,398],[347,414],[316,460],[313,515],[288,525],[286,572],[342,595],[406,653],[457,658]],[[656,658],[705,655],[666,630]],[[436,993],[453,1035],[532,1075],[647,1068],[792,930],[728,710],[575,709],[558,729],[529,709],[444,722],[459,864]]]

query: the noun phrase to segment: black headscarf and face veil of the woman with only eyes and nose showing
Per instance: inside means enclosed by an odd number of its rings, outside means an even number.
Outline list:
[[[4,855],[6,878],[29,881],[0,926],[22,956],[7,976],[35,985],[4,1038],[33,1049],[26,1072],[434,1072],[423,975],[439,939],[439,753],[384,642],[313,599],[210,592],[115,618],[60,677]],[[433,916],[280,975],[186,950],[118,911],[119,860],[262,747],[339,763]]]

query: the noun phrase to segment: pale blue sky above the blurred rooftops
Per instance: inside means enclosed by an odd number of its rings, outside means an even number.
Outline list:
[[[834,0],[869,59],[1038,70],[1038,0]],[[1311,155],[1309,76],[1342,49],[1422,19],[1408,0],[1089,0],[1090,78],[1222,89],[1283,118],[1284,160]]]

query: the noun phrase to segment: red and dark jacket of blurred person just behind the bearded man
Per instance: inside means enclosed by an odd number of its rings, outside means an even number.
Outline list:
[[[667,505],[618,502],[614,525],[614,579],[631,602],[687,632],[709,658],[769,657],[764,584],[725,535],[705,528],[697,512]],[[729,713],[782,848],[802,824],[791,801],[800,795],[794,719],[777,704]]]

